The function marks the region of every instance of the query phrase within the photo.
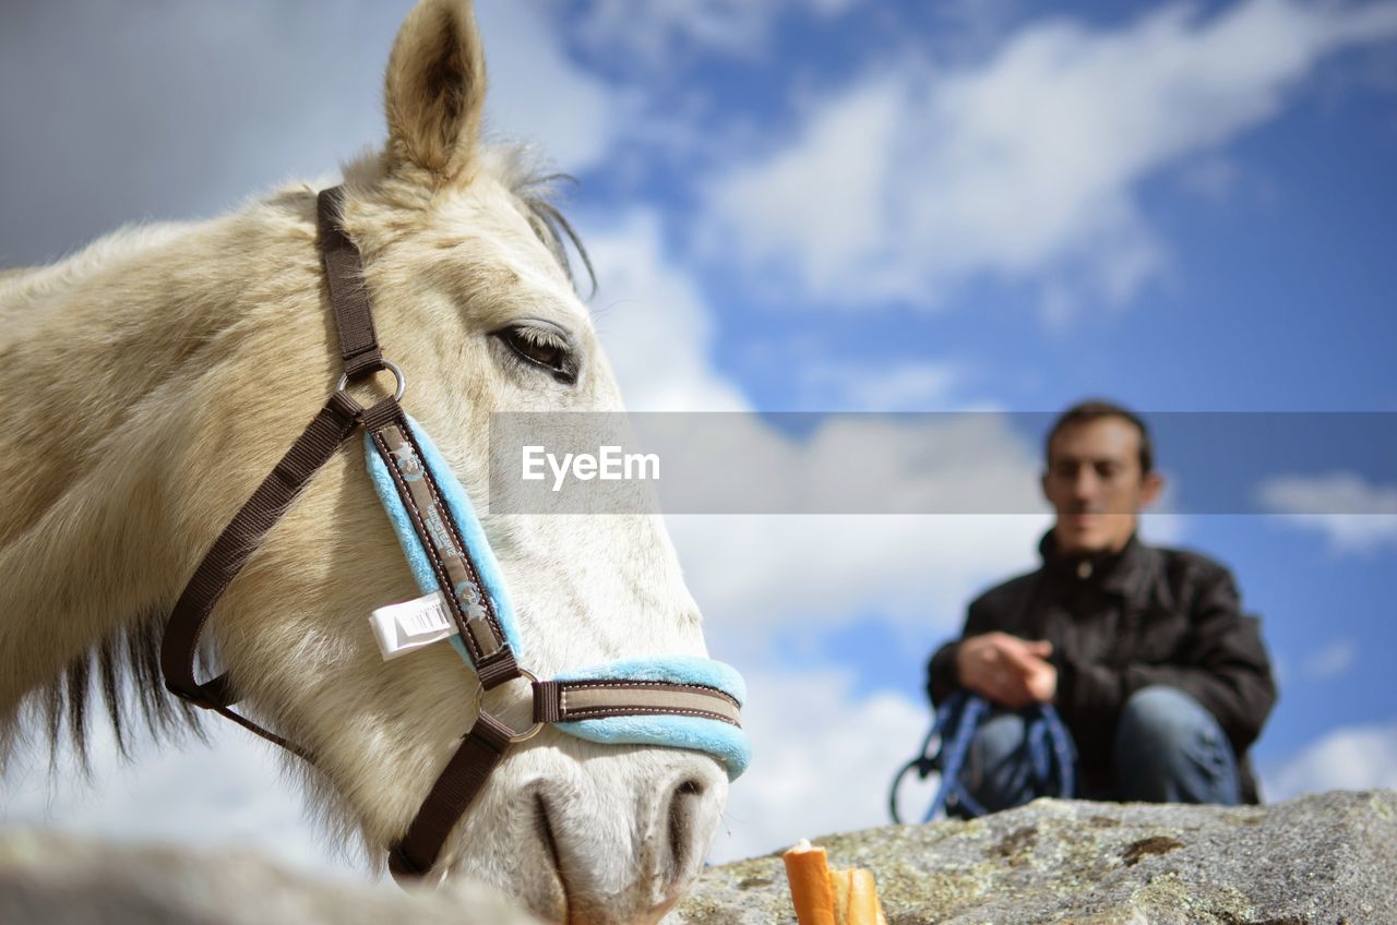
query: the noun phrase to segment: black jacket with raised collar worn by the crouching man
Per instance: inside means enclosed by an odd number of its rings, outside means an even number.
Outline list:
[[[970,605],[961,637],[1000,630],[1053,644],[1055,704],[1077,742],[1083,784],[1113,789],[1116,721],[1126,699],[1150,685],[1192,694],[1217,717],[1257,802],[1246,750],[1275,704],[1260,625],[1243,615],[1231,573],[1194,552],[1146,546],[1134,537],[1115,555],[1069,558],[1049,531],[1044,565],[990,588]],[[947,643],[928,665],[928,694],[960,685]]]

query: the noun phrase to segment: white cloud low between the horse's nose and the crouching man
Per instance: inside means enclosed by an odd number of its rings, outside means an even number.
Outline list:
[[[753,762],[732,787],[717,862],[891,822],[887,788],[921,745],[928,707],[891,693],[858,697],[835,669],[749,672],[747,687]]]

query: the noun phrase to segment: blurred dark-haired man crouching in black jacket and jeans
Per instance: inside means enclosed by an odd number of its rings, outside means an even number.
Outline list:
[[[928,693],[989,700],[963,780],[988,810],[1039,796],[1021,710],[1058,708],[1077,749],[1077,796],[1257,802],[1246,750],[1275,685],[1232,576],[1193,552],[1146,546],[1139,513],[1160,496],[1150,435],[1090,401],[1058,418],[1042,489],[1058,513],[1037,571],[970,605],[960,641],[929,665]]]

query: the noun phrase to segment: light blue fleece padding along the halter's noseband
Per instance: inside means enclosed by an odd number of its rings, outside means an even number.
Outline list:
[[[576,668],[556,675],[557,680],[666,680],[698,685],[724,692],[738,701],[747,699],[747,686],[731,665],[697,655],[657,655]],[[555,722],[553,728],[588,742],[613,745],[665,745],[707,752],[728,767],[736,780],[752,763],[747,734],[721,720],[704,717],[606,717],[578,722]]]

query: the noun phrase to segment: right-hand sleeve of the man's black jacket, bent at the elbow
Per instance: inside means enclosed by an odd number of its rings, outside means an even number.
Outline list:
[[[1275,682],[1261,643],[1260,622],[1241,612],[1232,576],[1217,569],[1200,578],[1189,612],[1189,632],[1165,664],[1058,664],[1058,701],[1083,721],[1115,728],[1134,692],[1168,685],[1211,713],[1234,748],[1245,750],[1261,732],[1275,704]]]

